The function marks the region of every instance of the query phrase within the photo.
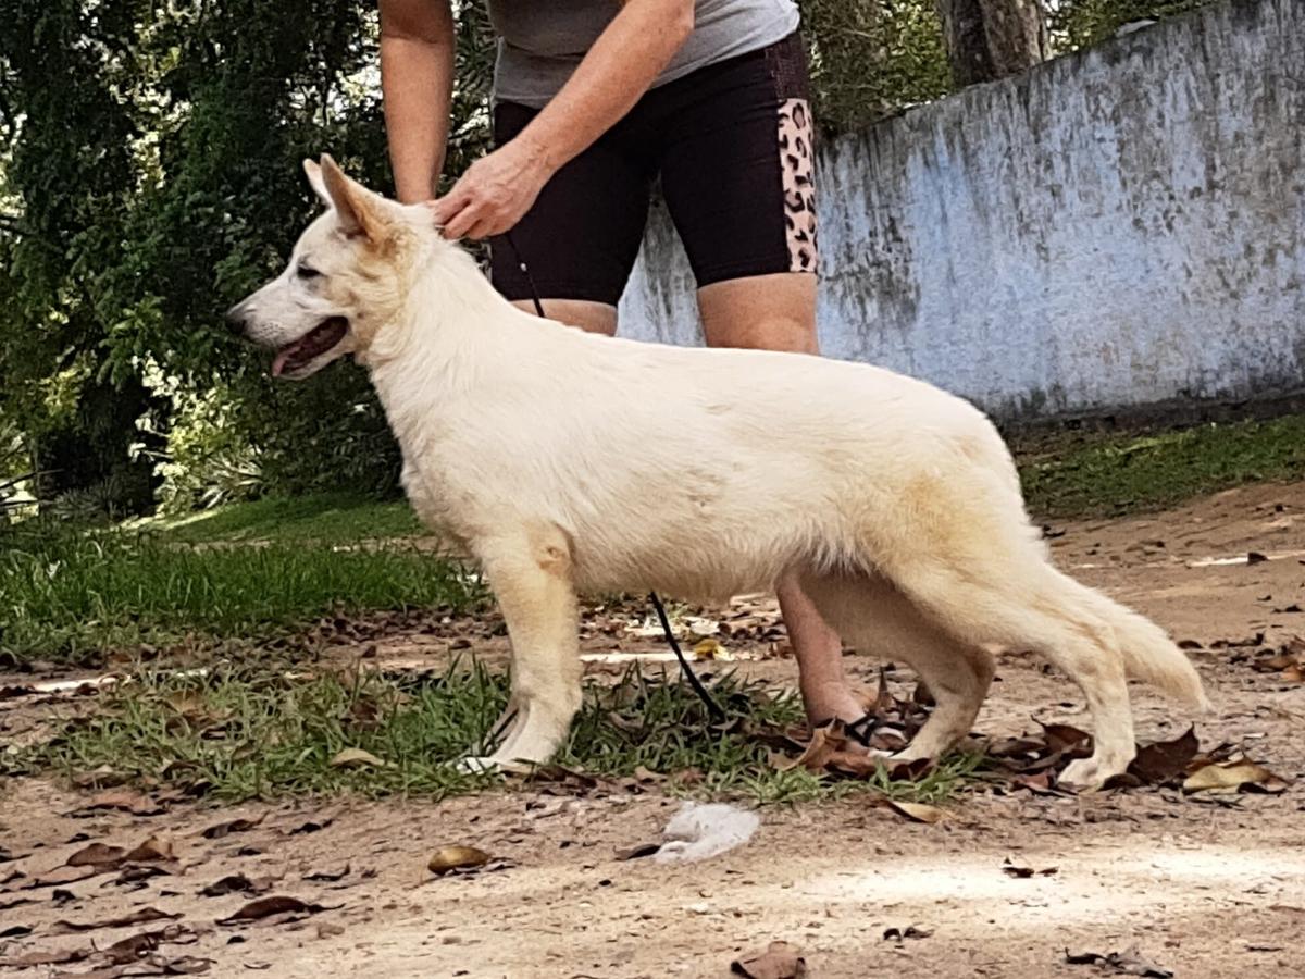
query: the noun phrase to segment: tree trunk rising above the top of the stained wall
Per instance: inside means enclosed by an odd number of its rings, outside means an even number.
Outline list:
[[[958,86],[1018,74],[1047,59],[1039,0],[936,0]]]

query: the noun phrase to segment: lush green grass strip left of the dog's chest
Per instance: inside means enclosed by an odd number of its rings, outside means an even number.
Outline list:
[[[0,650],[81,659],[183,636],[257,640],[335,610],[465,610],[476,595],[457,567],[416,550],[191,547],[25,526],[0,550]]]

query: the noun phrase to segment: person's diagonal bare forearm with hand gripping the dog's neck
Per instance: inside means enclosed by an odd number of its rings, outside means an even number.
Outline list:
[[[557,170],[630,111],[693,31],[693,0],[624,0],[561,91],[433,204],[448,238],[502,234]]]

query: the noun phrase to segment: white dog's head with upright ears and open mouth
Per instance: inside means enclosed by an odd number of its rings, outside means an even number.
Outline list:
[[[299,238],[277,278],[227,312],[238,334],[275,349],[271,373],[300,380],[363,355],[403,296],[410,209],[372,193],[329,155],[304,171],[328,210]],[[433,230],[433,228],[432,228]]]

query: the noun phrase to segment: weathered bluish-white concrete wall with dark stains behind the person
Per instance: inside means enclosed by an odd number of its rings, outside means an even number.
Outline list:
[[[1305,0],[1237,0],[833,141],[821,345],[1005,418],[1305,385]],[[656,213],[621,332],[699,342]]]

